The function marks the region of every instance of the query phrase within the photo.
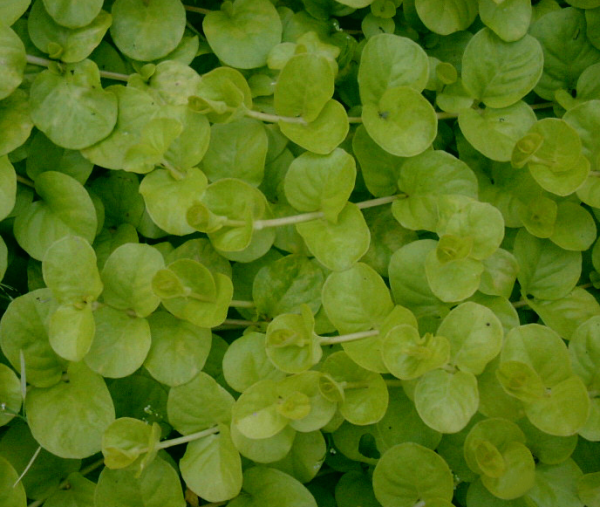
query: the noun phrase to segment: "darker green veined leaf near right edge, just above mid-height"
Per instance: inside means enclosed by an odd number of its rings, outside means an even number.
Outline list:
[[[524,230],[517,234],[513,254],[520,266],[517,278],[523,294],[539,299],[565,297],[581,275],[580,252],[568,252]]]

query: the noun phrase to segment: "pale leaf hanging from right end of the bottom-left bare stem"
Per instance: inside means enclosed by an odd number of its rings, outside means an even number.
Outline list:
[[[242,460],[224,424],[218,434],[190,442],[179,466],[187,487],[209,502],[230,500],[242,489]]]

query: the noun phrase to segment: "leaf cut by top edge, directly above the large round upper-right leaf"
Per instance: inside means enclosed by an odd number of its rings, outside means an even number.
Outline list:
[[[531,14],[531,2],[527,0],[479,1],[481,21],[506,42],[517,41],[527,33]]]

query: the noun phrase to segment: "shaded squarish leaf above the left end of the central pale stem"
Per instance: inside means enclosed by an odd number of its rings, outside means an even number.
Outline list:
[[[223,178],[239,178],[253,186],[263,180],[268,148],[263,124],[241,118],[211,128],[211,139],[202,168],[213,182]]]

